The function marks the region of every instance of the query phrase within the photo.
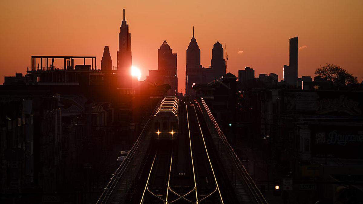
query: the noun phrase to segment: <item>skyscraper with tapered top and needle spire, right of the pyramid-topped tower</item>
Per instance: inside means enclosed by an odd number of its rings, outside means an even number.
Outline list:
[[[200,83],[201,81],[201,65],[200,65],[200,49],[196,39],[193,37],[189,42],[187,49],[187,65],[185,68],[185,94],[192,94],[193,83]]]

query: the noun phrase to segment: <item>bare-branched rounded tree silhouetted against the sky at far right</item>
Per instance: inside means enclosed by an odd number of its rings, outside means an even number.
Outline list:
[[[358,83],[357,77],[334,64],[320,66],[320,68],[317,68],[315,71],[315,76],[331,81],[338,86],[344,86],[348,83]]]

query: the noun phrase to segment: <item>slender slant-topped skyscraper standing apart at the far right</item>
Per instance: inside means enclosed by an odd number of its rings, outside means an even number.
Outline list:
[[[298,37],[289,39],[289,66],[284,66],[284,81],[293,86],[297,86],[298,78]]]

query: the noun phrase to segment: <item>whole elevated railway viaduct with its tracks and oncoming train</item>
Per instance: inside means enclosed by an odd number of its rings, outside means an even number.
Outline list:
[[[224,162],[213,147],[210,124],[205,122],[206,115],[209,122],[213,115],[203,99],[200,103],[186,105],[176,98],[164,98],[97,203],[267,203],[232,149],[229,154],[235,156],[233,164],[251,197],[242,202],[238,198]],[[223,132],[214,125],[228,147]],[[136,152],[144,138],[151,138],[150,147],[143,153],[144,162],[131,187],[126,195],[113,195],[121,186],[119,181],[130,174],[127,171],[133,157],[140,155]],[[125,191],[118,190],[118,194],[121,192]]]

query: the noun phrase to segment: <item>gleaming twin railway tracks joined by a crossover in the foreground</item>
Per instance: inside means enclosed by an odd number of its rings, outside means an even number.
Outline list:
[[[185,120],[185,131],[184,134],[179,133],[179,136],[187,140],[184,148],[185,152],[188,152],[185,156],[189,157],[189,174],[182,178],[176,175],[175,170],[178,167],[173,160],[177,158],[175,153],[178,150],[174,151],[175,144],[169,145],[171,149],[165,148],[167,145],[159,145],[150,169],[147,171],[148,175],[139,203],[224,204],[219,179],[209,156],[195,106],[185,105],[181,118]],[[184,187],[180,188],[181,186]]]

